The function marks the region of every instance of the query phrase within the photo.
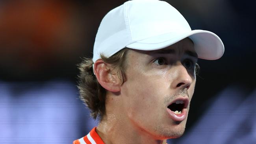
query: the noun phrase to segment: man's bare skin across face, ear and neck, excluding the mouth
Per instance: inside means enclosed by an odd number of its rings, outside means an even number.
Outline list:
[[[167,107],[176,98],[191,101],[197,62],[192,53],[188,38],[161,50],[129,50],[124,83],[103,61],[95,62],[96,77],[108,90],[106,115],[96,129],[106,144],[165,144],[184,133],[187,116],[176,122]]]

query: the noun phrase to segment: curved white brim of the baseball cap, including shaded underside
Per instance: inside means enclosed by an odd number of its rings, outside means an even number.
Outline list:
[[[136,50],[159,50],[166,48],[182,39],[189,37],[194,42],[198,58],[215,60],[224,54],[224,45],[221,39],[211,31],[192,30],[186,33],[165,33],[141,41],[128,44],[127,48]]]

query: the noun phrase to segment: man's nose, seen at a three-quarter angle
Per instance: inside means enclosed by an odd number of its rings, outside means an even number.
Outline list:
[[[171,87],[173,89],[189,89],[191,83],[193,82],[192,76],[189,75],[188,70],[181,63],[174,66],[172,76],[173,82],[171,83]]]

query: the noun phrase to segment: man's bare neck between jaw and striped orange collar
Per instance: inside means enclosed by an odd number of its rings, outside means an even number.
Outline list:
[[[105,116],[96,128],[96,132],[105,144],[166,144],[166,140],[153,138],[131,122],[117,115]]]

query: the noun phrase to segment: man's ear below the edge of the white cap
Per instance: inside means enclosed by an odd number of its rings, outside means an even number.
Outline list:
[[[93,70],[98,82],[104,89],[111,92],[120,91],[121,80],[118,78],[117,72],[111,71],[112,69],[102,59],[95,61]]]

